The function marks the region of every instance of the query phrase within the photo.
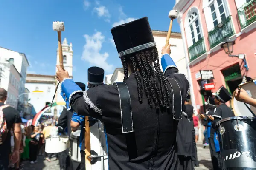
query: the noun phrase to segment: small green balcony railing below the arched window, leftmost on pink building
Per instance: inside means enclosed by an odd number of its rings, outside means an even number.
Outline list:
[[[189,61],[193,61],[205,52],[204,37],[202,37],[200,40],[195,42],[195,44],[189,47]]]

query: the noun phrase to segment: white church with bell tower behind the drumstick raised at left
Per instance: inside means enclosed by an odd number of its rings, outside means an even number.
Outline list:
[[[71,43],[68,45],[66,38],[62,42],[62,52],[64,69],[69,72],[70,77],[73,77],[73,49]],[[56,63],[59,64],[58,49]],[[47,103],[52,102],[57,84],[58,81],[55,75],[27,74],[25,87],[32,92],[29,95],[29,103],[34,106],[36,113],[44,108]],[[64,102],[62,96],[59,94],[59,88],[56,92],[54,102]],[[57,115],[59,116],[63,107],[57,106],[56,109]]]

